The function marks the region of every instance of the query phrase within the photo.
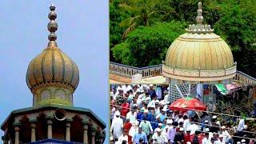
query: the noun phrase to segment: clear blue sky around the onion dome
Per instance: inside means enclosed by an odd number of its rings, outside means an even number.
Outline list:
[[[58,14],[58,47],[77,63],[80,71],[74,106],[90,108],[107,125],[109,12],[106,0],[1,1],[0,122],[11,110],[32,106],[26,69],[30,60],[47,46],[51,3]]]

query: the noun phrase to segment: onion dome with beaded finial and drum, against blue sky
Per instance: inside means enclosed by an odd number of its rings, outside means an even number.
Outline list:
[[[26,84],[30,88],[34,106],[50,103],[73,105],[73,93],[78,86],[78,66],[57,46],[58,24],[55,6],[50,6],[48,18],[48,46],[33,58],[26,71]]]

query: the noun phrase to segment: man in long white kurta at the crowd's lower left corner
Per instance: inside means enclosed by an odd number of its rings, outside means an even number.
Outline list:
[[[122,135],[123,121],[119,114],[116,114],[116,118],[113,119],[110,132],[113,131],[114,138],[119,138]]]

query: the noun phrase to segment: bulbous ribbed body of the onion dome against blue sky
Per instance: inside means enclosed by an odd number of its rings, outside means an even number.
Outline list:
[[[29,64],[26,84],[30,90],[36,86],[52,84],[75,90],[79,82],[78,66],[58,47],[50,46],[38,54]]]

